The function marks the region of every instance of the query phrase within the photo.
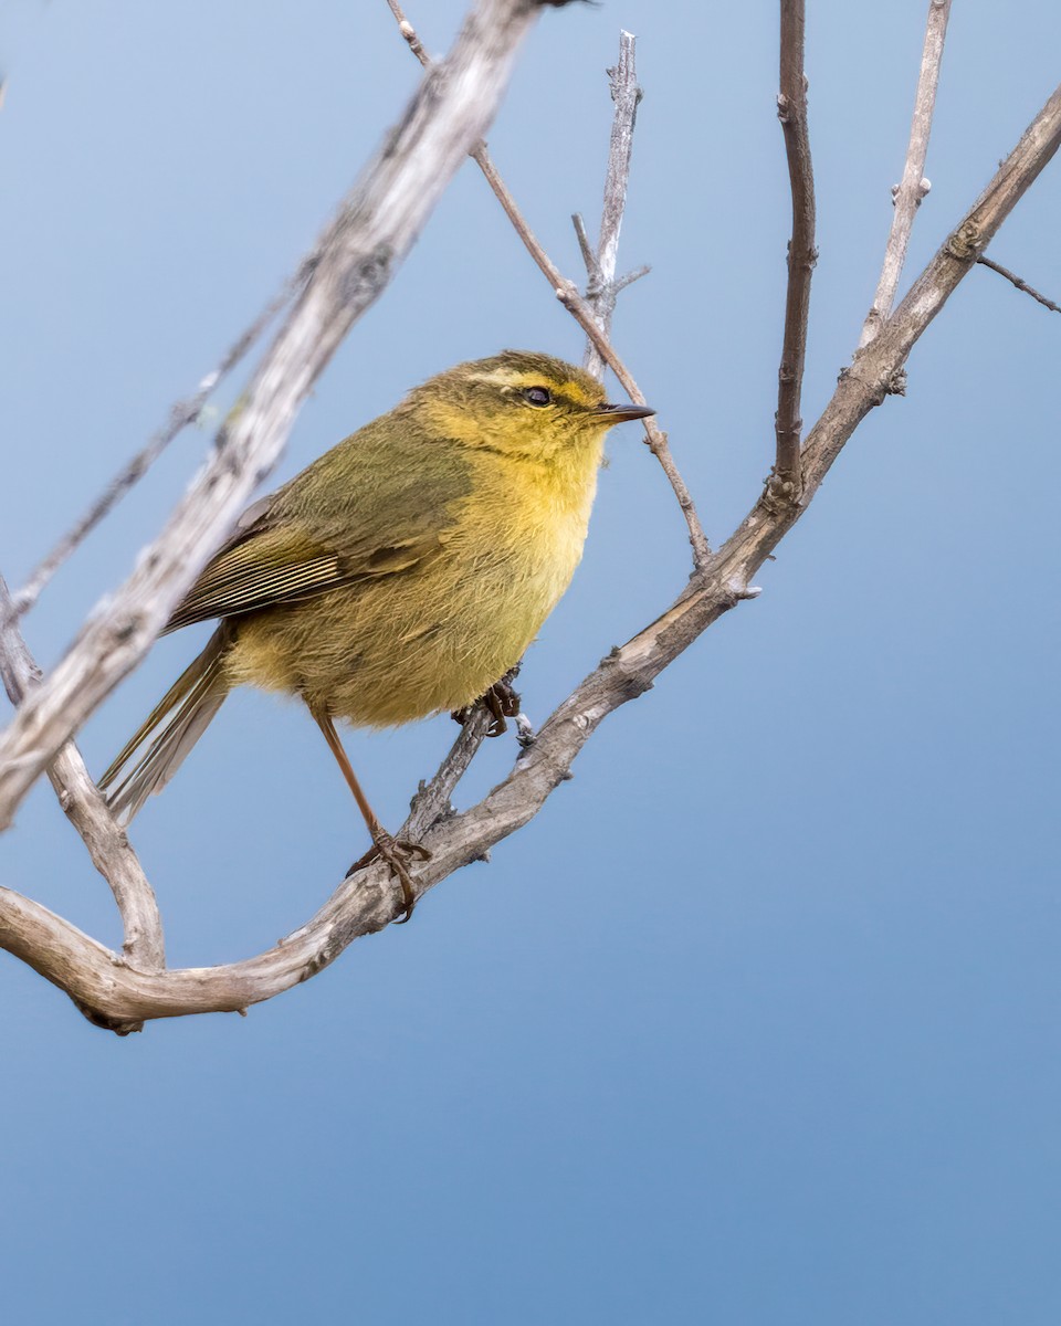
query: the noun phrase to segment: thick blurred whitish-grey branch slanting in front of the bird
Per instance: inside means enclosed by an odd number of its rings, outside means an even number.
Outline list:
[[[126,676],[269,473],[345,334],[390,282],[464,155],[493,118],[537,0],[477,0],[451,54],[428,70],[401,125],[314,251],[312,276],[220,430],[216,450],[111,603],[0,739],[0,829],[60,748]]]

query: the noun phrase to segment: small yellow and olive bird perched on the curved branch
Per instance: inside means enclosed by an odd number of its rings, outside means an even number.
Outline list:
[[[111,809],[127,823],[168,782],[232,687],[298,695],[408,911],[406,862],[426,853],[383,830],[333,720],[390,727],[491,691],[578,565],[605,434],[651,414],[505,350],[428,379],[255,503],[170,618],[220,625],[101,778]]]

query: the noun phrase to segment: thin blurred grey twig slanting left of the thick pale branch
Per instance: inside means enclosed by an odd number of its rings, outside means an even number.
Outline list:
[[[229,346],[216,369],[212,369],[203,378],[195,395],[187,396],[184,400],[178,400],[171,407],[168,423],[163,428],[159,428],[147,446],[138,451],[123,469],[118,471],[99,497],[97,497],[93,505],[77,521],[73,529],[64,534],[52,552],[37,564],[25,585],[23,585],[17,593],[11,595],[9,611],[13,611],[16,617],[21,617],[24,613],[28,613],[31,607],[33,607],[40,598],[41,591],[66,558],[88,538],[103,517],[109,514],[115,503],[118,503],[129,492],[129,489],[147,473],[174,438],[176,438],[182,430],[187,428],[188,424],[195,423],[203,412],[203,406],[211,398],[218,386],[225,377],[228,377],[232,369],[236,367],[240,359],[243,359],[277,313],[290,304],[290,301],[300,293],[300,289],[305,285],[308,277],[309,272],[305,265],[296,276],[289,277],[284,282],[284,288],[280,293],[265,305],[261,313],[259,313],[255,321],[243,332],[239,339]]]

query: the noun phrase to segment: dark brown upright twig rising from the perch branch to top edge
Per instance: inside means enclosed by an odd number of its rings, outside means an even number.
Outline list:
[[[777,370],[777,455],[773,467],[775,497],[800,495],[800,395],[806,359],[806,325],[810,316],[810,276],[814,271],[814,170],[806,125],[806,77],[804,76],[804,0],[781,0],[781,60],[777,118],[785,138],[785,158],[792,190],[792,239],[788,245],[788,290],[781,366]]]

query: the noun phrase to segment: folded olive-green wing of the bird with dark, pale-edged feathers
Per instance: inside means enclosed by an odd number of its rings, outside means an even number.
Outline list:
[[[428,477],[415,436],[386,439],[383,452],[375,427],[255,503],[166,630],[394,575],[436,556],[454,520],[452,504],[468,491],[468,472],[451,461],[448,448],[435,446]],[[439,467],[439,460],[447,463]]]

